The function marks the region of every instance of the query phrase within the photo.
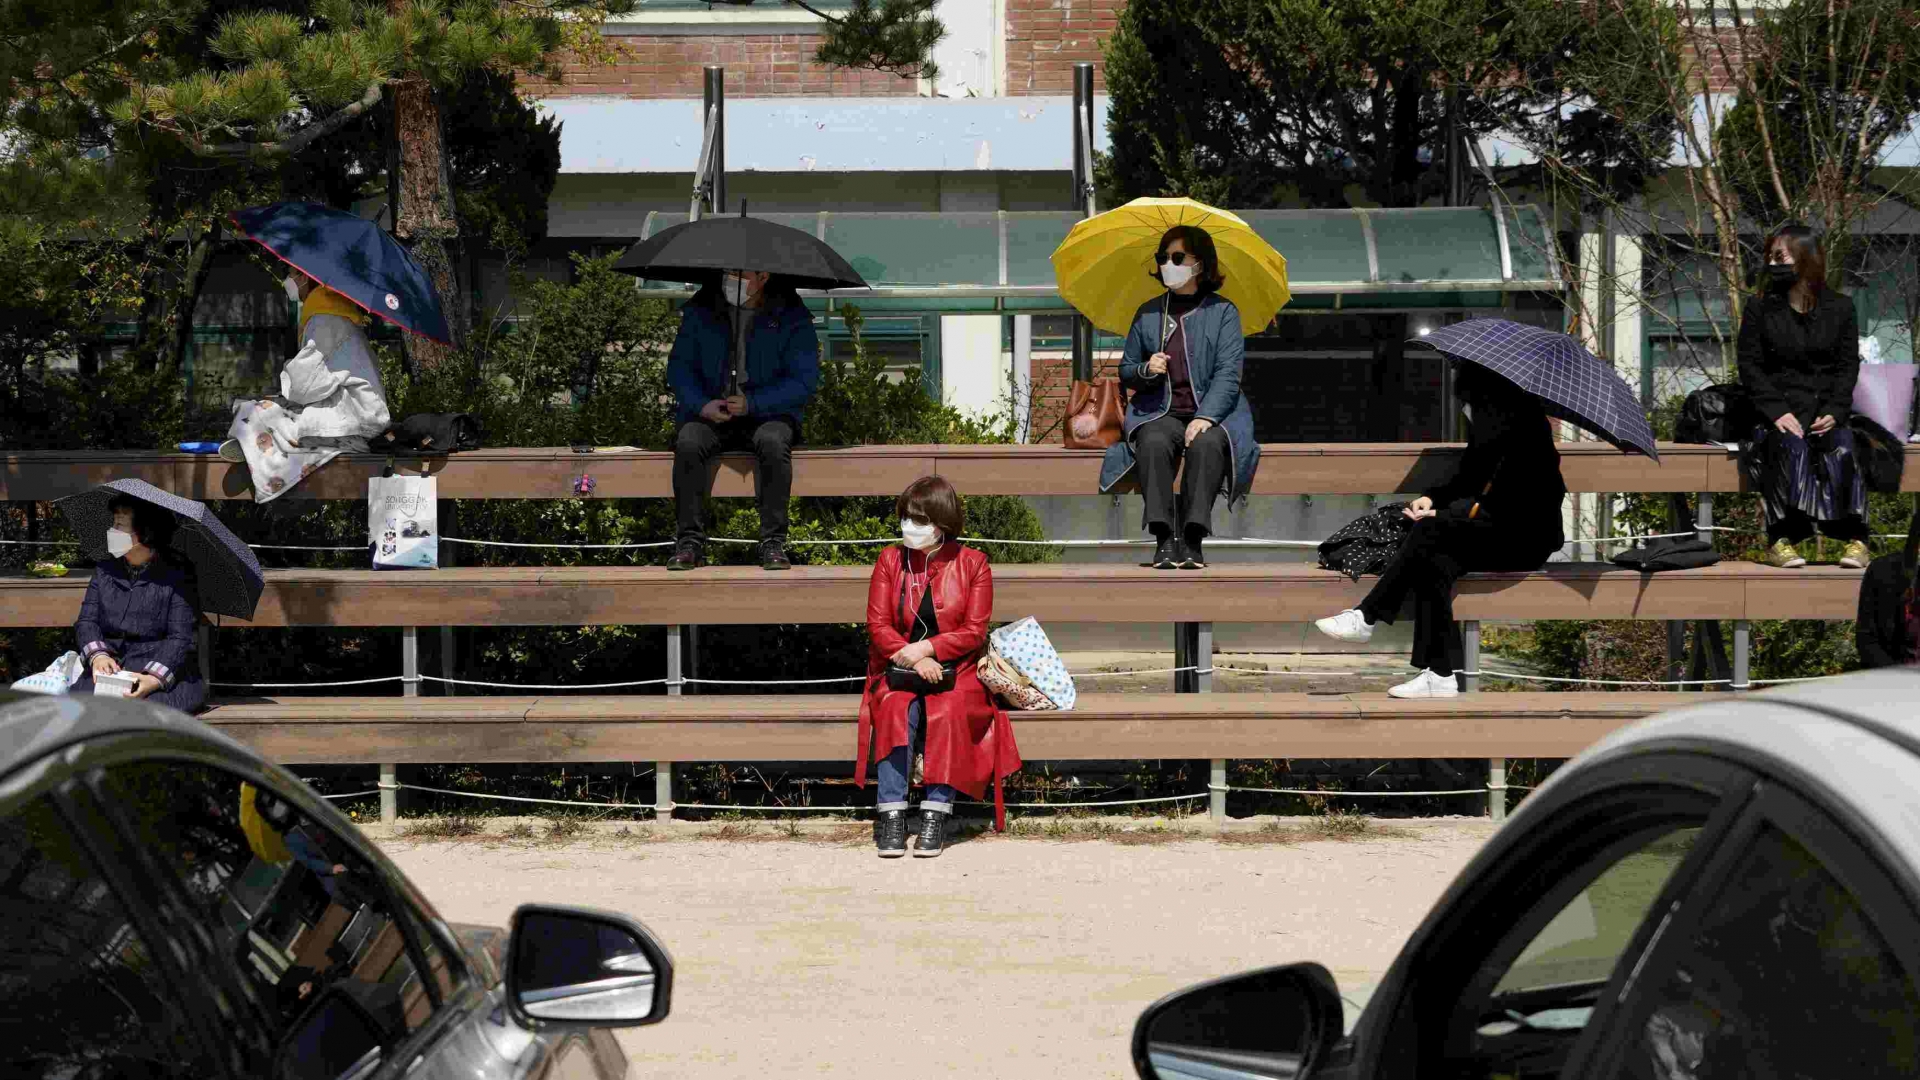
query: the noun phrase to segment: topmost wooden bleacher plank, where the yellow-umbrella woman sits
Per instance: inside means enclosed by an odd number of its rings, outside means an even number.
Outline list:
[[[1461,444],[1273,442],[1260,448],[1256,496],[1419,492],[1455,469]],[[1574,492],[1740,492],[1745,479],[1734,454],[1718,446],[1663,442],[1661,461],[1626,455],[1601,442],[1563,442],[1561,473]],[[1907,448],[1920,461],[1920,446]],[[386,457],[344,455],[282,498],[363,500],[367,479]],[[574,454],[568,448],[474,450],[438,459],[396,457],[399,473],[440,479],[447,500],[574,498],[572,482],[593,475],[595,498],[672,496],[672,454]],[[716,467],[716,496],[751,496],[751,457]],[[970,496],[1087,496],[1098,492],[1100,452],[1062,446],[854,446],[799,450],[797,496],[891,496],[914,479],[939,473]],[[136,477],[194,500],[250,500],[244,465],[211,455],[159,452],[13,452],[0,455],[0,502],[56,500],[113,479]],[[1920,492],[1920,469],[1905,490]]]

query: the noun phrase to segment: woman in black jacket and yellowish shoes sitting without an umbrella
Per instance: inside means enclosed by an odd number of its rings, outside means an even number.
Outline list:
[[[1839,565],[1870,557],[1866,479],[1847,427],[1859,377],[1853,302],[1826,286],[1812,229],[1788,225],[1766,240],[1764,292],[1740,319],[1740,384],[1763,417],[1741,465],[1766,507],[1768,565],[1805,567],[1797,544],[1814,523],[1847,544]]]

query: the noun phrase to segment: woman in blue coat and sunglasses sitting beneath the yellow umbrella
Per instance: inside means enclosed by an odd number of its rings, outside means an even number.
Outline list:
[[[1129,390],[1125,438],[1106,452],[1100,492],[1139,473],[1154,567],[1198,571],[1206,567],[1202,542],[1213,534],[1213,500],[1221,490],[1229,505],[1246,498],[1260,465],[1254,411],[1240,394],[1246,336],[1240,309],[1219,294],[1227,279],[1206,229],[1167,229],[1154,267],[1165,292],[1142,304],[1127,331],[1119,361],[1119,384]]]

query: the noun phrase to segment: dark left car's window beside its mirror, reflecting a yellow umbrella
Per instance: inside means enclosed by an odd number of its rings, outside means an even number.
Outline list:
[[[140,844],[177,871],[282,1051],[309,1040],[315,1024],[371,1030],[390,1049],[465,978],[424,934],[405,890],[275,792],[177,761],[109,769],[106,788]]]

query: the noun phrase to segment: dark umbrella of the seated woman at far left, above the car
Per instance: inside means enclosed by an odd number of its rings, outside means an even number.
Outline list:
[[[173,511],[179,519],[173,532],[173,552],[194,565],[202,611],[232,615],[234,619],[253,617],[259,594],[267,588],[267,577],[261,573],[253,550],[221,525],[207,503],[182,500],[146,480],[108,480],[90,492],[54,503],[67,515],[67,525],[73,527],[73,534],[81,538],[81,546],[90,557],[108,557],[108,528],[113,527],[113,511],[108,509],[108,503],[115,496],[131,496]]]

